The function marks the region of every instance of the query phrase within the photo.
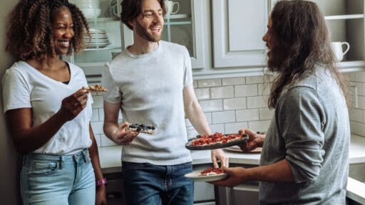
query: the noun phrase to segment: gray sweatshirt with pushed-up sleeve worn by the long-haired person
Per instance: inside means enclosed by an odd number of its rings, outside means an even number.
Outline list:
[[[345,204],[350,135],[344,95],[324,68],[287,89],[260,165],[287,159],[294,183],[260,182],[260,204]]]

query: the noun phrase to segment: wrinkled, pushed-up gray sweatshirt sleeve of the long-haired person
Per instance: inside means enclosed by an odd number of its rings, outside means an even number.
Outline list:
[[[295,87],[280,101],[277,123],[294,182],[316,179],[325,154],[322,125],[326,119],[317,93],[312,88]]]

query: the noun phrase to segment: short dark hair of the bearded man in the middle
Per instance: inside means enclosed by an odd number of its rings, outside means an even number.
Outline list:
[[[122,12],[120,14],[120,21],[125,24],[130,30],[133,30],[133,27],[129,25],[130,21],[133,21],[137,18],[138,15],[142,12],[144,0],[123,0],[122,3]],[[163,16],[166,14],[166,6],[165,0],[157,0],[160,3],[161,8],[163,9]]]

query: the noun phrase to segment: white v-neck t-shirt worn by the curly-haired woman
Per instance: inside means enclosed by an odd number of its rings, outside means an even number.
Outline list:
[[[63,98],[87,86],[83,70],[71,63],[68,65],[71,79],[66,85],[48,78],[24,61],[14,63],[6,70],[2,80],[4,112],[31,107],[34,126],[48,120],[61,108]],[[85,109],[73,120],[66,122],[56,135],[34,153],[74,154],[90,147],[89,123],[92,102],[93,99],[89,95]]]

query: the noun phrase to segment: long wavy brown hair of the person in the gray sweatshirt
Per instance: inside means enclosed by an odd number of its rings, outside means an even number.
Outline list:
[[[341,87],[347,105],[351,105],[349,82],[336,68],[326,20],[317,4],[302,0],[278,1],[270,17],[272,45],[268,67],[279,75],[272,83],[269,107],[275,107],[286,86],[307,78],[318,64],[329,70]]]

